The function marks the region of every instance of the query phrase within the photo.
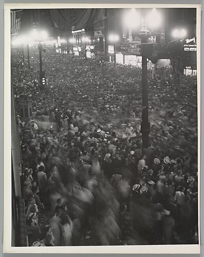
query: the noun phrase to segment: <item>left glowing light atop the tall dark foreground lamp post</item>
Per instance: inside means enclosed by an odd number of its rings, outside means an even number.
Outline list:
[[[135,29],[138,28],[141,24],[141,17],[139,12],[132,8],[131,10],[127,11],[124,15],[124,25],[128,28]]]

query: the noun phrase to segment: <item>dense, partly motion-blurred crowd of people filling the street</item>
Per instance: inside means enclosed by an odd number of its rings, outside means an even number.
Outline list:
[[[12,52],[29,246],[198,242],[197,83],[152,82],[150,145],[142,148],[141,70]],[[25,66],[25,64],[24,64]],[[33,119],[18,102],[27,96]]]

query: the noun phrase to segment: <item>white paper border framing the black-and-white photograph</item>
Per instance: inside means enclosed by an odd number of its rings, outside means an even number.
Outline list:
[[[135,246],[55,246],[55,247],[12,247],[11,246],[11,9],[58,9],[58,8],[196,8],[197,38],[197,107],[198,107],[198,232],[196,245],[135,245]],[[200,4],[5,4],[5,48],[4,48],[4,253],[200,253]]]

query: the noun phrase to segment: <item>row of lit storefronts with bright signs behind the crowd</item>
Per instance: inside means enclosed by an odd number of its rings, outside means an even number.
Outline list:
[[[73,56],[84,58],[95,58],[96,60],[115,61],[116,63],[125,65],[141,66],[141,54],[140,45],[141,40],[134,29],[127,28],[123,24],[124,12],[126,9],[107,9],[106,15],[103,16],[103,20],[96,21],[93,26],[89,28],[81,27],[75,29],[72,27],[70,35],[67,35],[66,44],[61,45],[59,51],[63,53],[73,54]],[[160,10],[159,10],[160,11]],[[164,12],[164,11],[163,11]],[[162,15],[166,15],[165,12]],[[168,13],[168,15],[170,15]],[[173,19],[173,17],[171,17]],[[169,37],[169,28],[166,23],[155,30],[153,35],[149,38],[149,42],[154,45],[156,52],[164,51],[163,46],[171,41]],[[110,41],[110,35],[117,35],[115,42]],[[194,38],[195,39],[195,38]],[[175,40],[174,40],[175,41]],[[178,41],[179,42],[179,41]],[[63,49],[64,46],[64,49]],[[166,49],[162,58],[158,58],[160,61],[157,66],[169,67],[171,63],[174,64],[178,59],[180,66],[185,74],[190,74],[188,62],[190,61],[195,65],[191,67],[191,74],[194,75],[196,70],[196,42],[189,39],[182,43],[181,51],[179,53],[170,53]],[[57,49],[58,50],[58,49]],[[179,57],[179,58],[178,58]],[[175,60],[172,62],[172,60]],[[191,65],[192,66],[192,65]],[[152,69],[153,63],[148,62],[148,68]],[[174,70],[174,68],[173,68]]]

